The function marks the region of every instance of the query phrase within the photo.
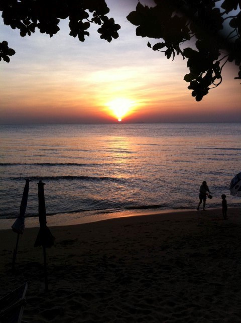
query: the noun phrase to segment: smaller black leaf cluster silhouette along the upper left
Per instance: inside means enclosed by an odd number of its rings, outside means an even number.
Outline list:
[[[0,11],[4,24],[19,29],[22,37],[31,36],[36,28],[52,37],[60,30],[60,19],[66,18],[69,18],[69,35],[78,36],[81,42],[89,36],[91,23],[100,26],[97,32],[108,42],[118,38],[117,31],[121,28],[106,16],[109,8],[104,0],[0,0]],[[0,60],[9,62],[9,56],[14,54],[6,41],[0,43]]]

